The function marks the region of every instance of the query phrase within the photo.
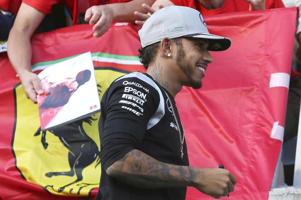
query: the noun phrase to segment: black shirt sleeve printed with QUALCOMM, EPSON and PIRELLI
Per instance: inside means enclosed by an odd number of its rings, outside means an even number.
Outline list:
[[[126,153],[139,149],[160,101],[156,88],[136,77],[114,82],[106,93],[99,121],[103,123],[99,132],[105,170]]]

